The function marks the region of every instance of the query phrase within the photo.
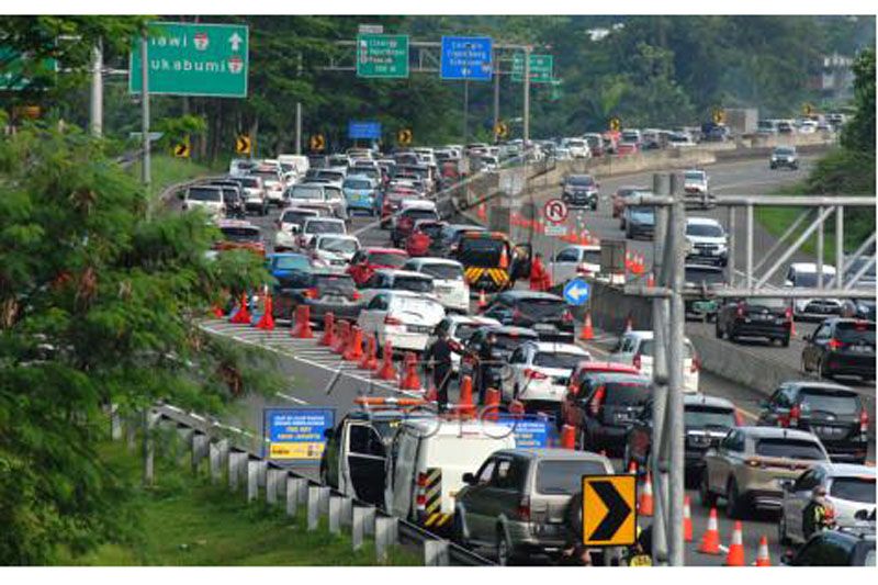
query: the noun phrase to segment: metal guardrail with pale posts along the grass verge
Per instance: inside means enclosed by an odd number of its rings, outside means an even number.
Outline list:
[[[386,560],[391,545],[404,543],[420,547],[426,565],[489,566],[495,564],[473,551],[392,516],[372,504],[305,477],[295,470],[266,461],[262,458],[264,439],[246,430],[169,404],[158,404],[150,408],[146,418],[150,429],[156,426],[168,426],[168,423],[173,426],[177,435],[187,442],[194,471],[200,469],[202,461],[207,460],[210,474],[214,482],[222,481],[226,475],[229,487],[234,491],[237,491],[243,484],[246,486],[248,502],[258,498],[260,487],[269,504],[280,504],[282,496],[289,516],[299,514],[300,504],[304,504],[308,530],[316,529],[319,518],[327,516],[331,532],[340,532],[341,527],[348,527],[351,530],[354,550],[362,545],[364,536],[372,536],[379,561]],[[113,437],[121,438],[122,421],[115,413],[112,427],[114,429]],[[134,421],[127,425],[128,441],[134,440],[136,427],[137,424]],[[147,457],[151,458],[155,449],[150,447],[145,451]],[[149,469],[153,468],[151,459],[147,465]]]

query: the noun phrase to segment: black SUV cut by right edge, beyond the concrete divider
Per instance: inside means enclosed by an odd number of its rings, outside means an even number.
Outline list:
[[[820,378],[857,375],[875,380],[875,322],[831,318],[804,336],[802,370]]]

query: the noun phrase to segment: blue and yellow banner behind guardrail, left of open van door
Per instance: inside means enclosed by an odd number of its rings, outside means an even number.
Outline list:
[[[290,463],[320,462],[326,429],[335,425],[333,408],[266,408],[263,435],[268,459]]]

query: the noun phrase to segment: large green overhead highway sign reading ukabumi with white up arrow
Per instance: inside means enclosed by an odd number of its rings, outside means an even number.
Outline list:
[[[246,98],[249,31],[237,24],[154,22],[147,32],[149,92]],[[140,45],[135,41],[128,90],[140,93]]]

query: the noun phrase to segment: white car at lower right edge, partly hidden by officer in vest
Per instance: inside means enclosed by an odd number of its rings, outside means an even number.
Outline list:
[[[804,542],[802,510],[811,499],[814,487],[826,490],[826,500],[835,513],[840,527],[856,526],[854,515],[859,510],[875,513],[875,468],[849,463],[818,463],[795,482],[785,483],[778,536],[780,544]],[[873,530],[875,525],[873,524]]]

